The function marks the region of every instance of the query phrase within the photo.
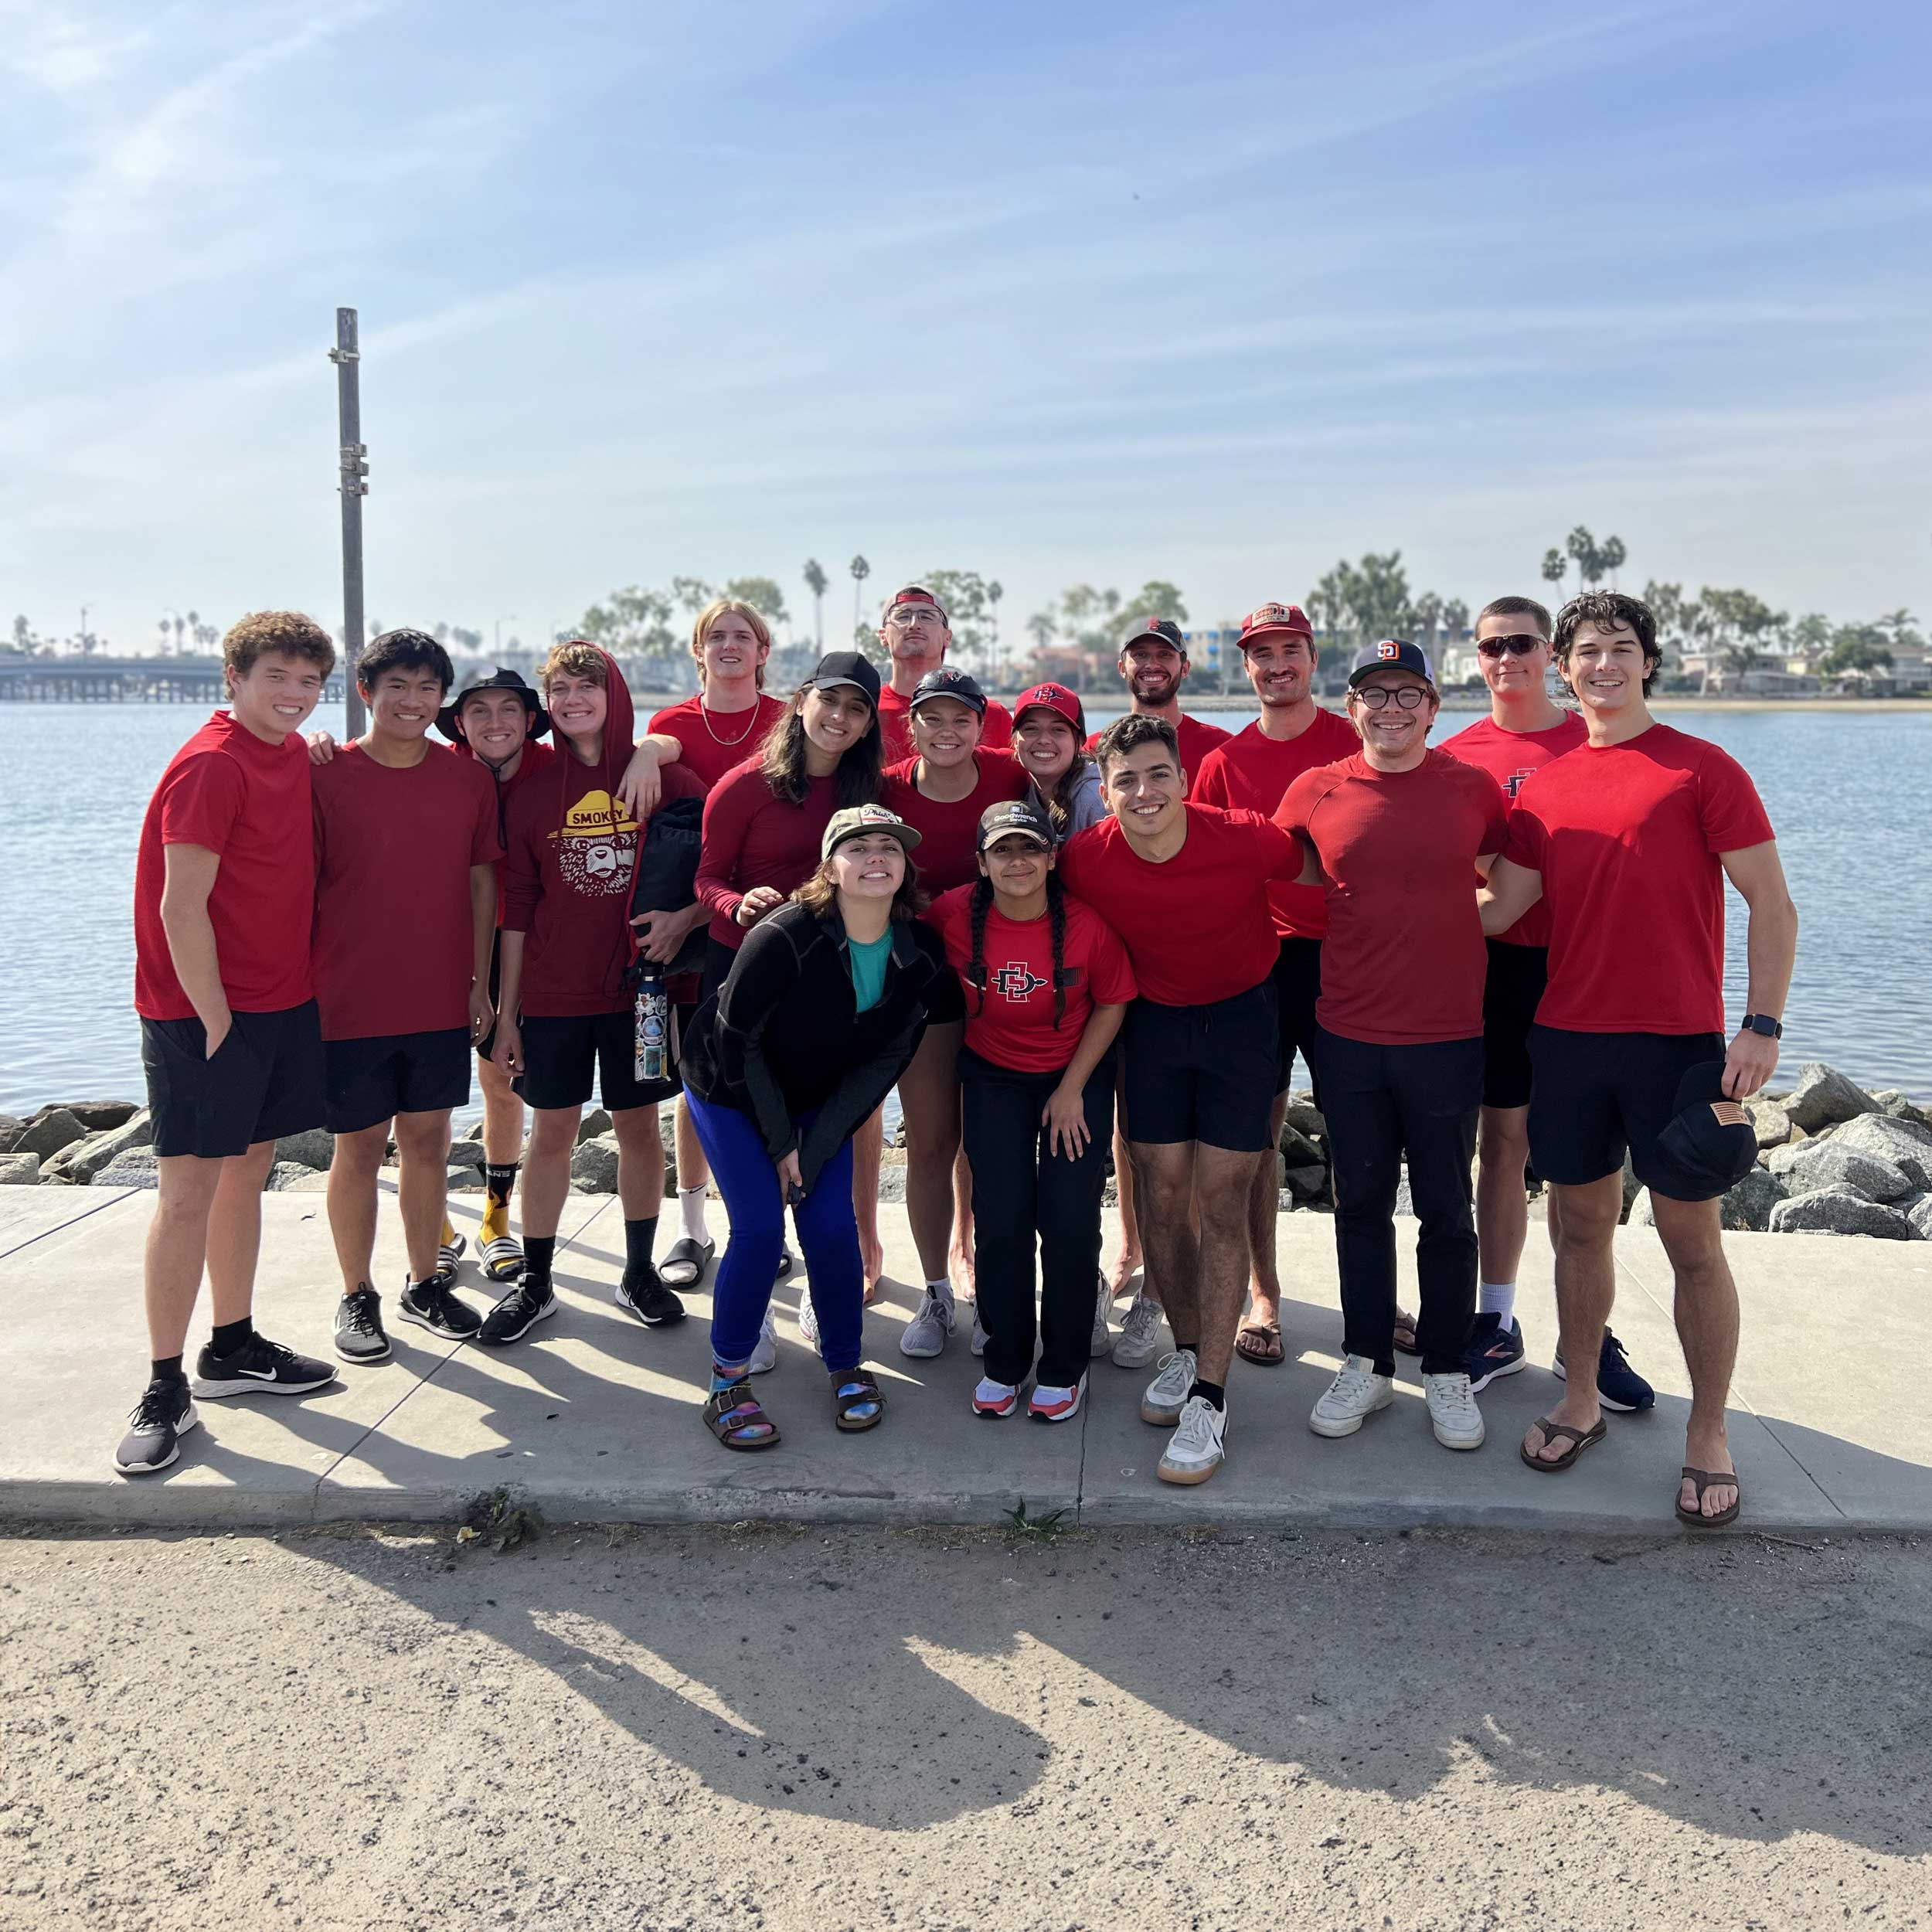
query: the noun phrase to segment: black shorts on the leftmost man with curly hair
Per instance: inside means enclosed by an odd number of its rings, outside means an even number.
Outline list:
[[[238,1012],[209,1059],[195,1018],[143,1020],[141,1070],[155,1153],[205,1161],[323,1124],[323,1022],[315,1001],[280,1012]]]

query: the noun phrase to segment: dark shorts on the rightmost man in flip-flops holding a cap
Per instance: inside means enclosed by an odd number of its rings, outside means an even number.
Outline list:
[[[1658,1150],[1677,1113],[1677,1088],[1700,1061],[1723,1065],[1721,1034],[1569,1034],[1530,1028],[1530,1165],[1557,1186],[1582,1186],[1623,1167],[1669,1200],[1714,1200]],[[1723,1188],[1718,1190],[1721,1194]]]

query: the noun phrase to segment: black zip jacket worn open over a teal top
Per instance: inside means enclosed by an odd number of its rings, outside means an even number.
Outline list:
[[[860,1012],[837,912],[781,906],[746,935],[684,1036],[686,1088],[748,1113],[773,1161],[796,1148],[808,1194],[906,1070],[927,1022],[964,1012],[939,935],[920,923],[891,931],[879,1005]],[[800,1136],[798,1119],[813,1109]]]

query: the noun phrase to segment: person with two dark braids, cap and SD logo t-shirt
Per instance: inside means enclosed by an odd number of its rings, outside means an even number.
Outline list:
[[[972,1405],[1066,1422],[1086,1397],[1099,1289],[1099,1202],[1113,1132],[1113,1039],[1136,997],[1126,949],[1053,875],[1053,825],[1030,800],[980,819],[980,881],[931,920],[966,989],[960,1049],[974,1273],[985,1376]],[[1034,1242],[1041,1316],[1034,1316]]]

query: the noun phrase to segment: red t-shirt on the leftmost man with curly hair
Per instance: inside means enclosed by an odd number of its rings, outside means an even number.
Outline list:
[[[282,1012],[315,991],[315,844],[309,831],[309,748],[301,732],[265,744],[216,711],[155,786],[133,867],[133,1005],[147,1020],[189,1020],[160,923],[166,846],[218,854],[209,922],[230,1012]]]

